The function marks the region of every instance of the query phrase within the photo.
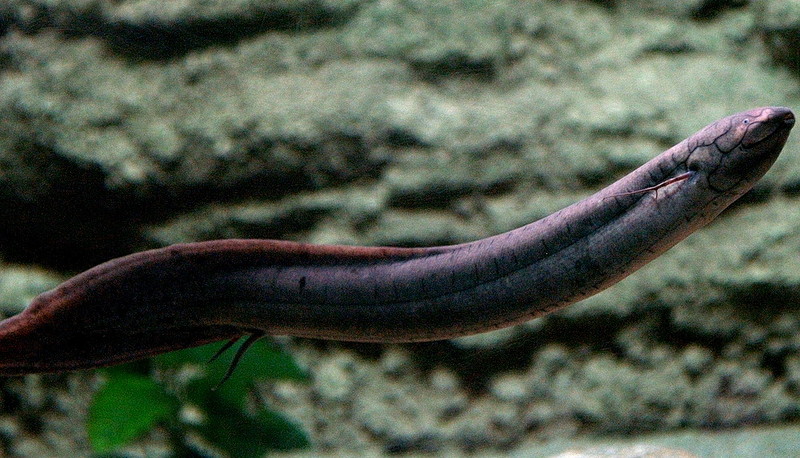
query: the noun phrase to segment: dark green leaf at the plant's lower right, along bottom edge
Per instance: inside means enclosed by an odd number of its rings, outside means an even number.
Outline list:
[[[253,417],[225,404],[216,404],[212,409],[214,414],[208,416],[199,432],[231,456],[262,457],[270,450],[309,446],[305,432],[278,413],[261,410]]]

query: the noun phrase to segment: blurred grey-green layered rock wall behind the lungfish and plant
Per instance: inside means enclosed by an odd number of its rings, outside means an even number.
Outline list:
[[[0,306],[183,241],[506,231],[717,118],[800,107],[798,45],[797,0],[5,0]],[[329,453],[675,430],[702,443],[791,424],[798,146],[795,134],[718,221],[605,293],[450,342],[281,339],[313,382],[263,394]],[[5,452],[87,454],[92,380],[5,380]]]

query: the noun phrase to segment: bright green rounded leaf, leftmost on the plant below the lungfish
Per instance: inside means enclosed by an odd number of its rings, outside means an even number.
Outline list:
[[[112,372],[89,407],[89,442],[97,453],[113,451],[159,421],[175,421],[178,408],[178,400],[150,378]]]

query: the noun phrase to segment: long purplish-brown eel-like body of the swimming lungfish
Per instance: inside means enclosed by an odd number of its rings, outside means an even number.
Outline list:
[[[0,374],[246,334],[414,342],[522,323],[611,286],[714,219],[764,175],[793,125],[781,107],[723,118],[597,194],[472,243],[216,240],[113,259],[0,322]]]

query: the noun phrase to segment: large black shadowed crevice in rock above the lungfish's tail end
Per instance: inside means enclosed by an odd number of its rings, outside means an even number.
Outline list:
[[[336,151],[347,150],[345,157],[335,161],[338,164],[312,161],[290,169],[265,164],[231,179],[151,182],[121,189],[109,188],[108,172],[96,164],[78,164],[48,145],[17,144],[15,154],[0,164],[6,171],[0,186],[0,257],[66,272],[85,270],[148,247],[143,226],[210,203],[277,200],[323,185],[377,177],[385,162],[365,159],[366,149],[355,147],[358,143],[350,138],[306,145],[310,158],[330,158]],[[262,228],[258,235],[285,238],[313,224],[314,218],[313,214],[291,214],[278,227]]]

